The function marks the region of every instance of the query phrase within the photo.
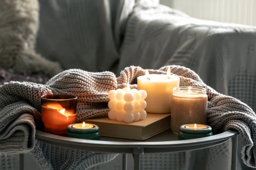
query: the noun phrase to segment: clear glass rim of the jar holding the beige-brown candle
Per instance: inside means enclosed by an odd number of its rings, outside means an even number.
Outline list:
[[[188,91],[191,90],[192,93],[188,94]],[[196,86],[180,86],[173,88],[173,94],[179,95],[201,95],[206,94],[206,89]]]

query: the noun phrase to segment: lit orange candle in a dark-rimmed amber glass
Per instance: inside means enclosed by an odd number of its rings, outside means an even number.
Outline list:
[[[76,123],[77,96],[52,94],[41,97],[41,119],[45,132],[63,135],[67,126]]]

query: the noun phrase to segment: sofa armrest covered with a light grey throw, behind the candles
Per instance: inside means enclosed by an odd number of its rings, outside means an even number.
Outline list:
[[[218,92],[256,107],[255,45],[255,27],[204,21],[162,5],[138,6],[127,24],[119,70],[185,66]]]

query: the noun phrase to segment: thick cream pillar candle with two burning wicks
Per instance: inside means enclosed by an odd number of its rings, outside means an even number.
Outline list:
[[[147,92],[146,112],[149,113],[170,113],[171,112],[171,94],[173,88],[179,86],[179,77],[170,75],[171,70],[168,68],[167,74],[149,74],[139,76],[138,90]]]

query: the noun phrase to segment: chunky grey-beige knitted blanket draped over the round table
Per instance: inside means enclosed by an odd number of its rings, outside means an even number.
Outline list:
[[[180,77],[180,86],[200,86],[207,89],[208,124],[214,133],[229,129],[242,136],[242,159],[256,167],[256,115],[241,101],[217,93],[205,85],[192,70],[181,66],[170,66],[172,73]],[[167,67],[149,70],[164,74]],[[0,86],[0,152],[6,154],[31,151],[42,169],[73,170],[108,162],[117,154],[103,154],[65,149],[35,140],[35,119],[40,120],[40,97],[51,93],[78,96],[77,121],[87,118],[106,117],[109,108],[107,93],[123,88],[128,82],[136,88],[136,78],[144,75],[141,67],[127,67],[120,77],[111,72],[91,73],[72,69],[51,78],[46,85],[28,82],[10,82]],[[8,143],[8,144],[7,144]],[[73,155],[73,156],[70,156]],[[77,156],[74,156],[77,155]]]

